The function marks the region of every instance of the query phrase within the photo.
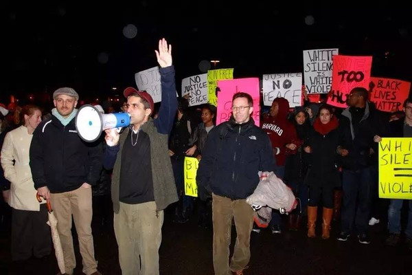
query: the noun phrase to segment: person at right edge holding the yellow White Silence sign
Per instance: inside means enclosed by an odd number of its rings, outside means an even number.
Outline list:
[[[407,98],[403,104],[404,118],[393,120],[389,123],[389,137],[412,137],[412,98]],[[375,142],[380,142],[379,135],[374,136]],[[388,209],[389,236],[385,244],[396,246],[400,243],[400,210],[402,210],[403,199],[390,199]],[[412,250],[412,200],[409,199],[408,221],[405,228],[405,243],[409,250]]]

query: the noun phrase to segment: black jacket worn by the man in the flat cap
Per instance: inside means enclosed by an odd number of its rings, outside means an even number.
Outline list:
[[[52,193],[76,190],[84,182],[94,185],[102,170],[100,141],[80,139],[75,119],[63,124],[52,115],[38,124],[30,145],[34,188],[47,186]]]

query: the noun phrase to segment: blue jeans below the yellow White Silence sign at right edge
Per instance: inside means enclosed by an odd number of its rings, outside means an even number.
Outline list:
[[[403,199],[391,199],[388,209],[388,228],[389,233],[400,233],[400,210],[402,209]],[[412,239],[412,200],[409,201],[408,223],[405,234]]]

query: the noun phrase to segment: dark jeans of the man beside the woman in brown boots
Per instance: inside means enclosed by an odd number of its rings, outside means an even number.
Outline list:
[[[352,232],[353,225],[355,225],[358,234],[367,232],[373,184],[371,167],[358,170],[343,169],[341,232]]]

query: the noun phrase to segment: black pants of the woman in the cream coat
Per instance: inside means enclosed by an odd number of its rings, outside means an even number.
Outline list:
[[[40,211],[12,208],[12,261],[29,259],[32,254],[41,258],[52,251],[50,228],[47,225],[47,207]]]

